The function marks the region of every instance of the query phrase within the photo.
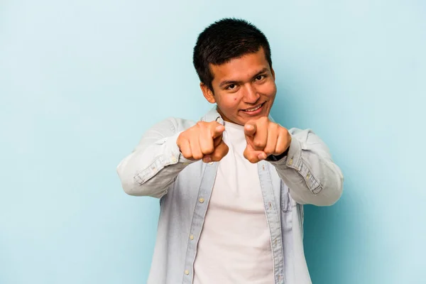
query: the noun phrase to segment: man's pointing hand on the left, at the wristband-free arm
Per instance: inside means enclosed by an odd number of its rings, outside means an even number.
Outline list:
[[[199,121],[195,126],[180,133],[176,143],[180,153],[188,160],[217,162],[229,151],[222,140],[224,130],[225,127],[217,121]]]

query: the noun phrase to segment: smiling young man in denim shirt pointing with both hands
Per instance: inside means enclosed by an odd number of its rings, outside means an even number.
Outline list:
[[[160,198],[148,283],[311,283],[302,204],[337,202],[341,170],[315,133],[269,116],[275,72],[258,28],[213,23],[193,62],[216,106],[156,124],[117,169],[126,193]]]

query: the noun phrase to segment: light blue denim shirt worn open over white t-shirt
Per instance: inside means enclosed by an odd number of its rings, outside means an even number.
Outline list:
[[[216,107],[202,121],[222,117]],[[170,118],[153,126],[117,168],[129,195],[160,198],[157,239],[148,284],[192,283],[197,243],[218,163],[185,159],[176,140],[196,121]],[[275,284],[311,283],[303,251],[303,204],[332,205],[343,175],[327,146],[311,130],[289,129],[288,155],[258,163],[271,233]]]

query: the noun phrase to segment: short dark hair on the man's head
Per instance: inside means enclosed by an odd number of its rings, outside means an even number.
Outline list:
[[[260,48],[265,51],[266,60],[272,67],[271,48],[266,36],[248,21],[223,18],[198,35],[192,62],[200,81],[213,92],[210,64],[221,65],[247,53],[256,53]]]

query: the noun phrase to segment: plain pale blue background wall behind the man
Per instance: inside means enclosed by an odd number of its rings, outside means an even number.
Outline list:
[[[0,283],[145,283],[158,200],[116,165],[156,121],[198,119],[198,33],[268,36],[275,120],[312,128],[344,175],[307,207],[313,283],[426,283],[424,1],[1,1]]]

